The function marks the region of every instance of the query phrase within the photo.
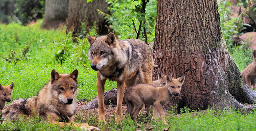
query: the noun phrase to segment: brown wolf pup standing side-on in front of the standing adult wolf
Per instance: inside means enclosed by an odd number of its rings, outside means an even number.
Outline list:
[[[125,99],[127,101],[127,111],[125,117],[128,118],[130,114],[133,121],[138,125],[136,117],[143,107],[143,104],[153,105],[154,116],[153,118],[161,118],[164,124],[165,114],[163,112],[163,105],[175,95],[180,94],[181,86],[184,82],[184,75],[178,79],[174,79],[174,73],[166,76],[166,85],[163,87],[152,86],[150,84],[138,84],[127,90]],[[139,125],[138,125],[139,126]]]

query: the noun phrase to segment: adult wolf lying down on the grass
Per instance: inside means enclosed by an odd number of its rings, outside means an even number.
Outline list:
[[[41,91],[32,98],[18,99],[8,104],[2,113],[3,122],[6,120],[15,120],[18,116],[27,117],[38,115],[49,122],[64,126],[66,122],[74,123],[75,127],[86,130],[99,130],[96,127],[90,127],[88,124],[74,122],[76,112],[76,95],[78,90],[78,70],[71,74],[59,74],[52,70],[50,82],[42,87]],[[71,123],[67,123],[70,125]]]

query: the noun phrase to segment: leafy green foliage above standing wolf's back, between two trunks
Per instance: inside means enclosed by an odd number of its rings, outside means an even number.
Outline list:
[[[135,39],[136,31],[133,27],[133,21],[138,31],[139,21],[143,20],[145,24],[142,23],[142,27],[146,28],[148,42],[154,41],[157,1],[150,0],[146,4],[146,12],[144,14],[140,12],[142,0],[107,0],[107,2],[110,4],[108,8],[111,15],[103,12],[99,13],[103,13],[109,23],[112,24],[111,28],[114,29],[118,38]],[[139,39],[145,40],[142,35],[140,35]]]

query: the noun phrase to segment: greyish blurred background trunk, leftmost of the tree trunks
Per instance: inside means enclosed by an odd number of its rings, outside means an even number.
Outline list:
[[[71,0],[72,1],[72,0]],[[41,28],[58,28],[68,17],[68,0],[46,0]]]

